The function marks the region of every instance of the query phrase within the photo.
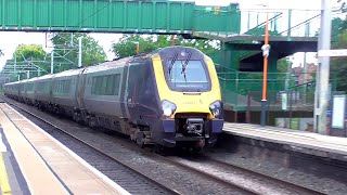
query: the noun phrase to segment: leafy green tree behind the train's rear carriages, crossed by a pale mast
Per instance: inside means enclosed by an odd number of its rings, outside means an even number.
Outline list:
[[[56,72],[76,68],[78,65],[78,38],[82,37],[82,65],[102,63],[106,54],[101,46],[87,34],[59,32],[52,38],[54,46],[54,65]]]

